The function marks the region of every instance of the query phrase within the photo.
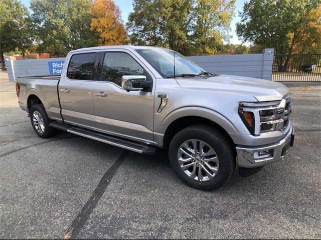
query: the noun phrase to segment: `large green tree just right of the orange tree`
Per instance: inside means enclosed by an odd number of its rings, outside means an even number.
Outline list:
[[[187,54],[192,8],[191,0],[134,0],[127,22],[131,43]]]

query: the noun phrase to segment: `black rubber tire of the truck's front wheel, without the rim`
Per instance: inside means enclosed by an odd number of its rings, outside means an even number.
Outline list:
[[[214,178],[199,181],[191,178],[182,170],[178,161],[178,151],[181,144],[189,139],[204,141],[215,150],[219,161],[219,169]],[[213,190],[224,185],[232,176],[236,162],[233,142],[221,130],[203,124],[192,125],[178,132],[171,141],[169,156],[171,165],[177,175],[186,184],[202,190]]]

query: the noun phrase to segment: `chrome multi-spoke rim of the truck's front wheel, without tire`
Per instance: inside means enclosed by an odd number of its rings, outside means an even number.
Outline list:
[[[182,170],[198,181],[213,179],[219,170],[219,159],[214,149],[204,141],[190,139],[178,150],[178,161]]]

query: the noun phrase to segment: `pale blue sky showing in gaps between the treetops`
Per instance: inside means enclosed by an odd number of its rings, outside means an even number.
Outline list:
[[[236,3],[235,3],[235,12],[234,12],[235,15],[231,22],[232,30],[230,32],[230,34],[232,35],[232,38],[230,39],[230,43],[233,43],[233,44],[240,44],[240,41],[238,40],[235,32],[235,29],[236,29],[235,24],[240,21],[238,12],[242,11],[244,1],[245,0],[236,0]],[[21,0],[21,2],[27,7],[30,6],[30,0]],[[116,3],[116,5],[119,6],[122,13],[122,19],[124,20],[124,23],[126,23],[129,12],[133,11],[132,0],[114,0],[114,2]]]

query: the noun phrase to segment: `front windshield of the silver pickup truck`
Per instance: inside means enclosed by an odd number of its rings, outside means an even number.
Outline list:
[[[174,51],[167,49],[136,49],[155,70],[165,78],[174,77]],[[208,73],[182,54],[175,52],[176,76],[199,76]],[[210,74],[210,73],[208,73]]]

